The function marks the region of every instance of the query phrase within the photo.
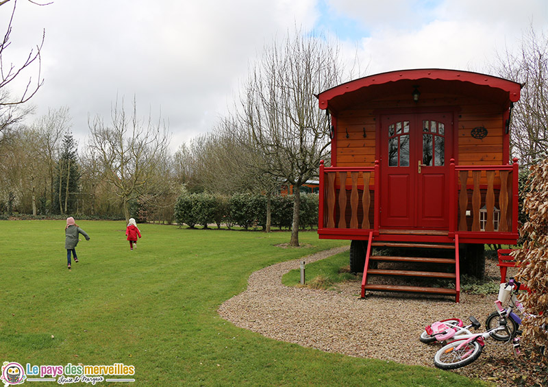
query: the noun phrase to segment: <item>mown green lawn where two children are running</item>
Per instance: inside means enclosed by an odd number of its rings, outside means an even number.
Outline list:
[[[136,370],[129,386],[481,385],[277,342],[216,313],[253,271],[347,241],[303,232],[310,247],[281,249],[288,232],[140,225],[129,251],[123,222],[77,223],[91,240],[79,242],[69,271],[63,221],[0,221],[0,363],[123,363]]]

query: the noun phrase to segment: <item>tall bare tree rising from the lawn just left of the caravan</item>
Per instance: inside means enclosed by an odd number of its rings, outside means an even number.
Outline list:
[[[338,48],[300,30],[264,49],[241,98],[243,143],[264,155],[264,173],[295,187],[290,245],[299,246],[299,188],[329,152],[329,122],[314,95],[340,83]]]

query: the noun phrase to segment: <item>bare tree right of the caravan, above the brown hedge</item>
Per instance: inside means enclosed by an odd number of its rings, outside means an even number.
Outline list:
[[[521,98],[512,110],[512,154],[521,164],[548,156],[548,36],[531,26],[518,53],[499,54],[495,71],[521,82]]]

